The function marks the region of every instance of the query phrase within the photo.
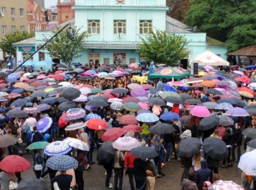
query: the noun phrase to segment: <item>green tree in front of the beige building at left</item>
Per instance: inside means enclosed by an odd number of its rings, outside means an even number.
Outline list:
[[[17,31],[13,34],[6,34],[5,37],[1,39],[0,49],[9,55],[14,55],[14,57],[16,57],[16,48],[13,47],[12,44],[32,37],[34,37],[34,34],[29,34],[28,32],[21,33]]]

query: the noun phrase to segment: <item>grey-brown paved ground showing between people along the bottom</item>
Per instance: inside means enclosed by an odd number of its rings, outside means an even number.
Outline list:
[[[96,156],[96,154],[94,155]],[[31,160],[31,155],[24,155],[25,158]],[[96,160],[96,158],[94,158]],[[171,160],[166,164],[163,173],[166,174],[165,177],[156,179],[155,190],[180,190],[180,177],[183,168],[180,166],[180,161]],[[85,190],[103,190],[105,189],[105,171],[100,165],[92,165],[92,168],[88,171],[84,171]],[[227,169],[219,169],[220,177],[223,180],[234,180],[236,183],[240,184],[241,171],[237,168],[237,163]],[[32,169],[22,173],[22,178],[27,178],[35,176]],[[111,183],[113,184],[114,178],[111,178]],[[50,186],[49,177],[45,177],[45,181]],[[113,189],[113,188],[112,188]],[[124,176],[123,188],[122,190],[130,190],[128,176]]]

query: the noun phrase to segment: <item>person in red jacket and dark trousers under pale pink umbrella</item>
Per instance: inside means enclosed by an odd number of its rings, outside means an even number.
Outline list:
[[[125,170],[126,174],[128,173],[131,190],[135,190],[135,188],[134,188],[134,165],[133,165],[134,159],[136,159],[135,156],[132,156],[130,154],[130,152],[126,152],[126,154],[124,156],[124,170]]]

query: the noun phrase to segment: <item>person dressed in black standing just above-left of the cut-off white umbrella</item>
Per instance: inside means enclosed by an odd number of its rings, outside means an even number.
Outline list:
[[[235,162],[239,162],[240,156],[241,156],[241,145],[242,145],[242,130],[241,126],[236,123],[235,124],[235,129],[233,131],[233,143],[232,143],[232,160],[235,160],[235,148],[237,148],[237,160]]]

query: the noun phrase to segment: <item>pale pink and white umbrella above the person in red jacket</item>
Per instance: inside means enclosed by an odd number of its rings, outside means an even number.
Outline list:
[[[132,137],[119,137],[112,144],[113,148],[121,151],[130,151],[133,148],[140,146],[140,143],[137,139]]]

